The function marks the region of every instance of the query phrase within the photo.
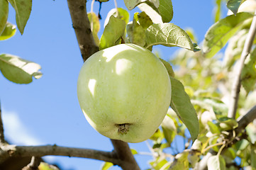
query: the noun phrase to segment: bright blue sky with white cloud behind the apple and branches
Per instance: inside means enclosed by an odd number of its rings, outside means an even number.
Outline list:
[[[193,28],[199,42],[213,23],[213,0],[173,0],[172,23]],[[87,2],[90,7],[91,1]],[[126,8],[123,1],[118,7]],[[97,13],[96,2],[94,11]],[[108,11],[115,8],[113,0],[102,5],[101,30]],[[90,8],[88,8],[90,11]],[[139,11],[135,8],[130,13]],[[225,11],[226,12],[226,11]],[[130,16],[132,20],[133,16]],[[10,7],[9,22],[15,23]],[[167,60],[174,50],[154,47]],[[110,140],[96,132],[84,118],[77,101],[77,77],[82,57],[72,28],[67,1],[33,1],[31,16],[23,35],[0,42],[0,53],[18,55],[41,65],[43,77],[31,84],[13,84],[0,74],[0,98],[5,135],[17,145],[60,145],[111,151]],[[130,144],[139,152],[149,152],[145,142]],[[100,169],[103,162],[69,157],[45,157],[62,165],[62,169]],[[142,169],[148,168],[150,156],[135,157]],[[115,167],[113,169],[119,169]]]

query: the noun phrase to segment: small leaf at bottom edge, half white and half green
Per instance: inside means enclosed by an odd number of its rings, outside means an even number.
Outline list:
[[[207,161],[208,170],[225,170],[226,162],[221,155],[215,155]]]

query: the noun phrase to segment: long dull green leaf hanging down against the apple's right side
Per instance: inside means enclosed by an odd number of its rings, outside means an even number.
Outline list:
[[[192,140],[196,140],[199,135],[199,120],[196,115],[194,106],[184,90],[183,84],[170,77],[172,84],[172,101],[171,108],[177,113],[182,122],[187,126]]]

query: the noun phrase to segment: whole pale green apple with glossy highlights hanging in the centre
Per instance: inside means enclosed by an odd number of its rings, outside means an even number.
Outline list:
[[[165,118],[171,82],[164,64],[134,44],[108,47],[84,62],[77,96],[89,124],[124,142],[148,140]]]

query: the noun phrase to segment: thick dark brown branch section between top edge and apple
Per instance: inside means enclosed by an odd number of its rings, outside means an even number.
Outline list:
[[[85,62],[91,55],[99,51],[91,34],[91,27],[87,16],[86,0],[67,0],[72,26],[77,36],[77,42]]]

